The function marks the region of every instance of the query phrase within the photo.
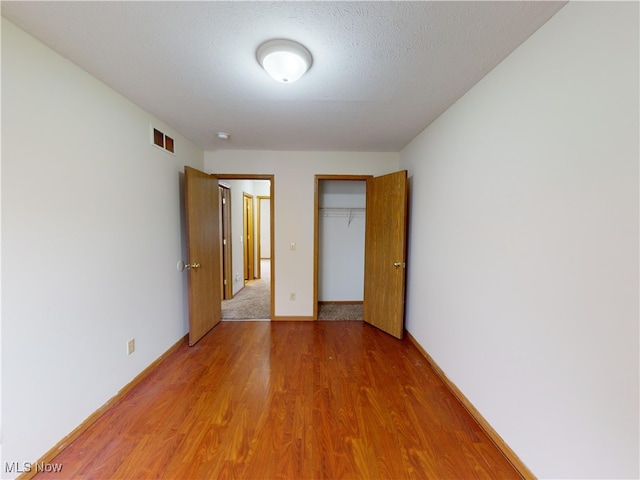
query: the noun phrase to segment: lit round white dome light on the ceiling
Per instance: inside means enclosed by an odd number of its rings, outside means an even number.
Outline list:
[[[256,52],[258,62],[269,75],[282,83],[292,83],[311,67],[311,53],[291,40],[269,40]]]

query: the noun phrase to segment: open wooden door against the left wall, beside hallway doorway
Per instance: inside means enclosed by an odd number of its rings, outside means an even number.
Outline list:
[[[222,319],[218,179],[184,167],[189,274],[189,345]]]

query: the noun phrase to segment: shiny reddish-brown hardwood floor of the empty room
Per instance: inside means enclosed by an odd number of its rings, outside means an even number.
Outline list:
[[[37,479],[521,478],[407,339],[222,322]]]

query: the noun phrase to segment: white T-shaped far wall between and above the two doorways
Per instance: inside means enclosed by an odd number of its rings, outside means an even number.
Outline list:
[[[276,152],[217,150],[205,152],[209,173],[273,174],[275,314],[313,315],[313,209],[315,175],[382,175],[398,170],[398,153]],[[290,250],[296,242],[296,250]],[[289,294],[296,293],[296,300]]]

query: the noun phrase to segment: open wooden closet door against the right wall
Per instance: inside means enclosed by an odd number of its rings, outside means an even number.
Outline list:
[[[364,321],[404,335],[407,171],[367,179]]]

